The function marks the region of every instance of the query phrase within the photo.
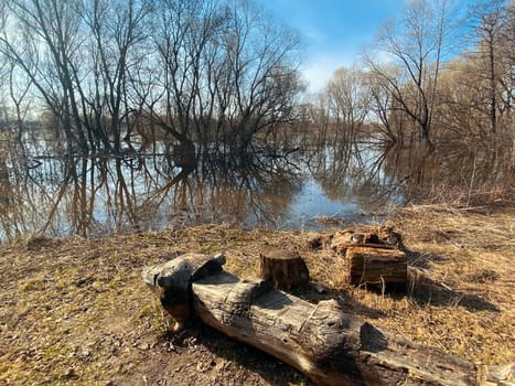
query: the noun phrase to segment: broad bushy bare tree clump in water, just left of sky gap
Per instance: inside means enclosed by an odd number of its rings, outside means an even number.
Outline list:
[[[152,120],[181,143],[247,150],[292,119],[299,41],[245,1],[158,3],[152,34],[163,74]]]

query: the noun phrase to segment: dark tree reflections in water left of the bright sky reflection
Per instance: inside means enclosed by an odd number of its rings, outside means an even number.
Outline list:
[[[176,167],[169,153],[0,158],[0,239],[21,235],[110,233],[232,223],[272,224],[301,187],[282,158],[232,164],[204,158]],[[9,167],[8,167],[9,165]]]

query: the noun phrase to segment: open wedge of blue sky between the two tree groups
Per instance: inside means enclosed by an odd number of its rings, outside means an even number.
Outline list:
[[[256,0],[303,34],[302,72],[309,90],[321,89],[332,73],[360,58],[377,29],[401,13],[407,0]],[[463,3],[474,0],[459,0]]]

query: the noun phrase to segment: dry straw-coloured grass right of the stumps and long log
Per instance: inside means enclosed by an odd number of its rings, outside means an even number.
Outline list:
[[[414,206],[390,222],[414,251],[410,264],[427,268],[436,286],[383,302],[364,294],[387,314],[375,323],[475,363],[515,362],[513,205]]]

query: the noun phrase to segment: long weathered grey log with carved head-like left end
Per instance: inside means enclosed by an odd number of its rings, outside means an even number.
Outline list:
[[[172,313],[172,288],[184,288],[190,317],[300,369],[320,385],[504,385],[511,367],[478,368],[439,350],[374,328],[334,300],[309,303],[270,281],[225,272],[223,256],[189,255],[143,272]],[[192,262],[193,261],[193,262]],[[180,275],[178,272],[181,272]],[[180,279],[180,286],[172,281]],[[174,298],[175,297],[175,298]],[[184,312],[179,318],[184,321]],[[490,376],[490,378],[489,378]],[[507,384],[507,383],[506,383]]]

